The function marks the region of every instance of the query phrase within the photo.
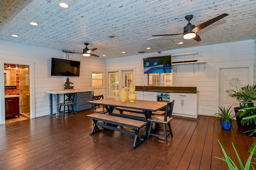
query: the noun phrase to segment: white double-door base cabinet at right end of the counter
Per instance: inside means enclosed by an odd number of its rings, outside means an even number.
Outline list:
[[[194,117],[198,116],[198,93],[170,93],[170,101],[175,100],[173,115]]]

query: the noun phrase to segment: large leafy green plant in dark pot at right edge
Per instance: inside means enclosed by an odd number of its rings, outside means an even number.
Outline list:
[[[247,85],[242,87],[237,93],[232,93],[231,96],[240,101],[242,108],[239,109],[237,116],[241,119],[241,124],[244,128],[244,133],[250,136],[256,136],[252,131],[256,128],[256,85]],[[249,119],[243,119],[249,117]]]

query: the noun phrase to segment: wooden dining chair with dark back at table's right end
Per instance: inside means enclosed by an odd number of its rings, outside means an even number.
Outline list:
[[[150,127],[149,127],[149,131],[148,131],[148,138],[147,139],[149,139],[150,135],[157,136],[157,137],[164,138],[165,144],[167,144],[167,137],[169,135],[172,136],[172,128],[171,128],[171,125],[170,125],[170,121],[172,120],[173,106],[174,106],[174,100],[167,103],[164,115],[152,115],[150,118],[148,118],[148,122],[150,123]],[[163,128],[157,128],[156,127],[155,130],[163,130],[164,131],[164,136],[159,135],[159,134],[155,134],[155,133],[151,133],[153,123],[158,123],[158,124],[163,125]],[[168,125],[169,130],[166,130],[166,124]],[[169,132],[169,133],[167,134],[167,132]]]

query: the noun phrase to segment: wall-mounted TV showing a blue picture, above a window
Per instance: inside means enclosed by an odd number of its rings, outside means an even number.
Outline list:
[[[144,73],[172,73],[171,56],[143,58]]]

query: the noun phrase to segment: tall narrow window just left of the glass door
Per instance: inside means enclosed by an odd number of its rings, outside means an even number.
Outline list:
[[[108,72],[108,96],[119,96],[119,72]]]

